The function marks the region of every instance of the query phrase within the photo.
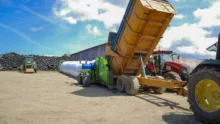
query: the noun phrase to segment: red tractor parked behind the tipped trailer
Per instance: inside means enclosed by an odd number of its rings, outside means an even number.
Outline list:
[[[170,50],[155,50],[145,68],[147,75],[187,81],[190,67],[179,62],[179,55]]]

